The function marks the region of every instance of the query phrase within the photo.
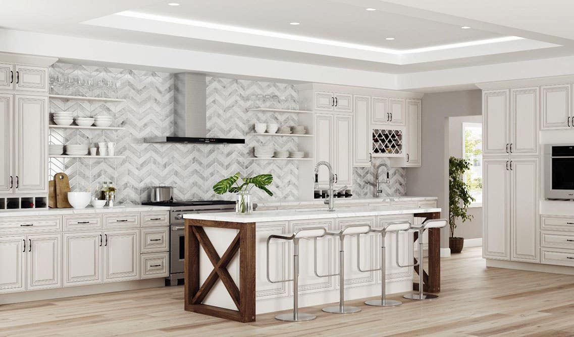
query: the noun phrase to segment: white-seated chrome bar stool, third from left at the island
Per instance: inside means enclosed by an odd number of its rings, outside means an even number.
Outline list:
[[[398,246],[398,233],[401,231],[408,231],[410,229],[410,222],[409,221],[397,221],[397,222],[390,222],[386,224],[382,228],[373,228],[371,232],[373,233],[381,233],[381,267],[375,269],[361,269],[360,268],[360,235],[357,236],[357,269],[360,272],[374,272],[374,271],[381,271],[381,299],[379,300],[368,300],[365,301],[364,304],[367,305],[375,305],[377,307],[393,307],[395,305],[401,305],[401,301],[395,300],[387,300],[386,299],[386,254],[385,254],[385,237],[386,234],[396,233],[397,235],[397,246]],[[397,254],[398,256],[398,254]]]

